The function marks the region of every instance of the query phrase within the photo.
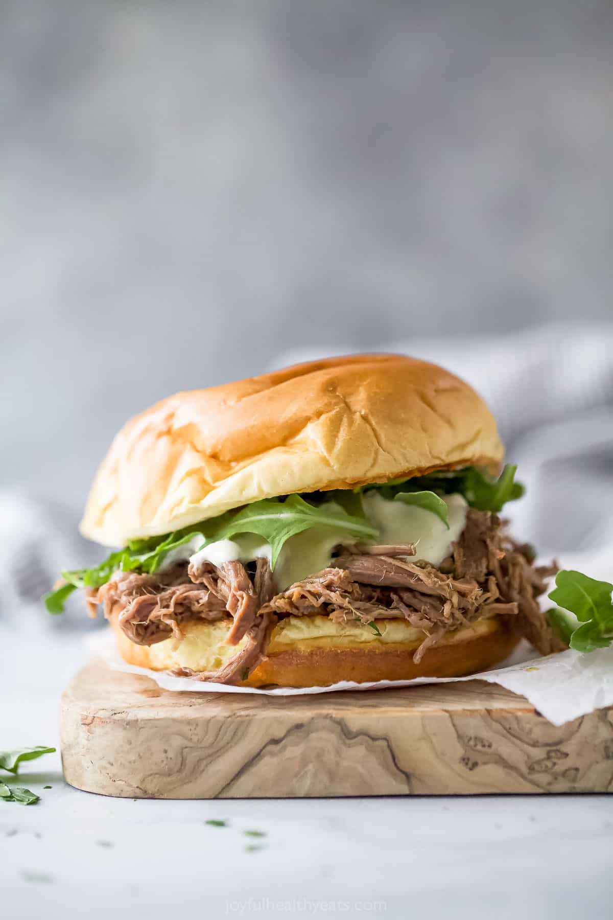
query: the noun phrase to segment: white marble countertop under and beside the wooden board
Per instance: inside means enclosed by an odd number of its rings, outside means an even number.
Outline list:
[[[57,744],[83,655],[0,630],[0,746]],[[21,779],[40,802],[0,803],[6,920],[609,915],[610,796],[108,799],[66,786],[59,753]]]

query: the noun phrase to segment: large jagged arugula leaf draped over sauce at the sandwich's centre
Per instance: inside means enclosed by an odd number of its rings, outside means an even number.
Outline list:
[[[366,518],[348,514],[334,502],[318,507],[301,499],[300,495],[289,495],[285,501],[255,501],[243,511],[222,515],[219,521],[219,527],[210,535],[211,540],[226,540],[238,534],[259,534],[270,544],[271,569],[275,568],[285,541],[310,527],[333,527],[363,540],[375,540],[379,534],[377,527]]]

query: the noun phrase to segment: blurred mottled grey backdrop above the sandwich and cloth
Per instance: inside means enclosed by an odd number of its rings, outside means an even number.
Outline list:
[[[612,114],[606,2],[0,0],[3,483],[76,512],[297,347],[613,318]]]

